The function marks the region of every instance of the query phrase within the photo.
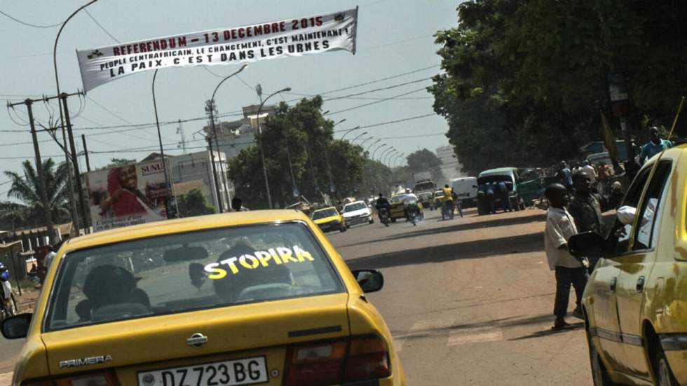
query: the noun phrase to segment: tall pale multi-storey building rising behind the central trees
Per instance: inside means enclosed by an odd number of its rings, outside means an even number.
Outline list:
[[[241,150],[254,145],[259,107],[257,104],[245,106],[243,107],[243,118],[240,120],[215,123],[217,141],[215,141],[215,133],[212,132],[212,126],[203,127],[205,135],[212,139],[212,150],[219,148],[219,152],[224,153],[227,160],[231,160]],[[276,105],[262,106],[259,117],[260,123],[264,123],[264,119],[268,116],[273,116],[276,113],[276,109]]]

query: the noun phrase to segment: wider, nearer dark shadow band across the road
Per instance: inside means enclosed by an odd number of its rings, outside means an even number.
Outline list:
[[[411,246],[411,244],[409,244]],[[351,269],[390,268],[421,263],[442,263],[459,259],[478,259],[502,254],[516,254],[544,249],[544,237],[540,232],[528,235],[499,237],[442,244],[434,247],[405,249],[403,251],[376,254],[346,260]]]

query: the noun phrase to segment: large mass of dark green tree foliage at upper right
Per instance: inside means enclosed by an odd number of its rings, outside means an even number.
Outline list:
[[[577,156],[610,116],[609,73],[627,79],[635,133],[672,123],[687,92],[683,2],[474,0],[458,20],[436,34],[446,74],[430,92],[470,173]]]

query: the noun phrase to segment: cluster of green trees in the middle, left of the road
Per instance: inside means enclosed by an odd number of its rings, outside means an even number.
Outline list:
[[[295,106],[282,103],[276,115],[260,122],[262,144],[272,201],[285,207],[292,197],[292,174],[301,195],[321,200],[320,192],[343,198],[362,187],[365,160],[360,146],[334,140],[334,122],[322,116],[322,98],[301,99]],[[291,161],[291,167],[289,165]],[[267,197],[258,146],[243,149],[229,161],[236,194],[250,208],[266,207]]]

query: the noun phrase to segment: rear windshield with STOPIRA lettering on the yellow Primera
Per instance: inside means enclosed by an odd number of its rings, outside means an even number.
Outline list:
[[[67,254],[45,329],[341,291],[303,224],[177,233]]]

